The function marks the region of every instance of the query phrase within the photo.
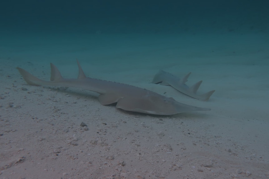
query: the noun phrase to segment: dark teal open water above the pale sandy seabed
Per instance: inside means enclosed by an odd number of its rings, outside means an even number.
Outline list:
[[[267,32],[269,1],[1,1],[5,33]]]

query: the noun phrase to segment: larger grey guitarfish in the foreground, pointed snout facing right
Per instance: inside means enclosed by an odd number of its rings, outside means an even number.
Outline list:
[[[126,111],[154,115],[173,115],[182,112],[210,110],[209,108],[186,105],[175,101],[171,97],[165,97],[143,88],[87,78],[78,61],[77,64],[79,68],[77,79],[63,78],[59,70],[53,64],[51,64],[51,81],[41,80],[22,68],[17,67],[17,69],[29,85],[76,87],[90,90],[100,94],[98,98],[102,105],[117,103],[117,108]]]

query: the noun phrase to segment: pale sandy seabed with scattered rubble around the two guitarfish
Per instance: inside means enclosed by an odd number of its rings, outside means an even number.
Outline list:
[[[262,34],[27,35],[0,42],[0,178],[268,178],[269,40]],[[146,88],[211,111],[154,116],[102,106],[94,92],[28,86],[49,79]],[[151,84],[159,69],[199,80],[210,101]],[[81,122],[88,130],[83,130]]]

